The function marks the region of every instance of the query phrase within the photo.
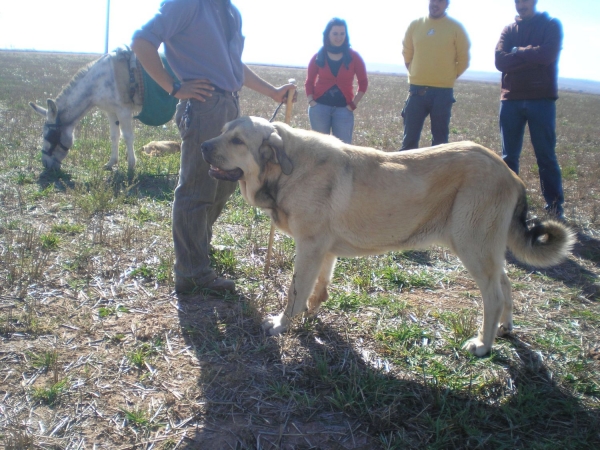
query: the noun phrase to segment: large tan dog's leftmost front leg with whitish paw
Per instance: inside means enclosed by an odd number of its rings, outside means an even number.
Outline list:
[[[292,317],[308,309],[308,298],[313,293],[315,281],[323,265],[326,251],[323,242],[314,239],[296,241],[296,262],[294,275],[288,290],[288,303],[285,311],[263,322],[263,329],[272,336],[287,330]]]

